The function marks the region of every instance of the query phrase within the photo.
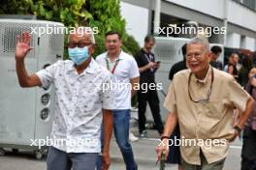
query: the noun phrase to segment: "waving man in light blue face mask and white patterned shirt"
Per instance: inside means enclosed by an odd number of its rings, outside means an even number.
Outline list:
[[[55,87],[54,120],[48,147],[48,170],[92,170],[101,152],[100,128],[105,140],[103,169],[110,166],[112,135],[112,91],[102,90],[111,82],[111,73],[92,58],[94,37],[89,27],[79,27],[69,36],[71,60],[57,61],[47,69],[29,75],[24,58],[32,49],[31,36],[16,38],[16,74],[21,87]]]

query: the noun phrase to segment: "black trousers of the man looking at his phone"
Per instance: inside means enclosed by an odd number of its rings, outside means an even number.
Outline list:
[[[155,126],[159,132],[159,134],[163,133],[163,123],[161,120],[161,115],[160,115],[160,107],[159,107],[159,99],[157,96],[157,91],[156,90],[147,90],[145,91],[139,91],[138,92],[138,102],[139,102],[139,131],[142,132],[145,127],[145,108],[146,108],[146,103],[148,102]]]

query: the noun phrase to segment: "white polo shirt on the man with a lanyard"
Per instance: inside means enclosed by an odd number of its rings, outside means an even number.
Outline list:
[[[119,62],[112,73],[114,85],[112,90],[115,92],[115,109],[130,109],[131,108],[131,83],[132,78],[140,76],[138,65],[131,55],[121,51]],[[96,61],[107,68],[108,52],[105,52],[96,57]]]

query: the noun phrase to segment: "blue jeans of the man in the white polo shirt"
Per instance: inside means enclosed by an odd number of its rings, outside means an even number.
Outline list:
[[[130,109],[127,110],[112,110],[113,116],[113,132],[117,145],[122,153],[123,160],[126,165],[126,170],[137,170],[137,164],[134,160],[132,146],[129,143],[129,128],[130,128]],[[102,128],[103,131],[103,128]],[[103,136],[103,133],[102,133]],[[103,145],[103,137],[102,137]],[[97,170],[101,167],[101,157],[97,160]]]

